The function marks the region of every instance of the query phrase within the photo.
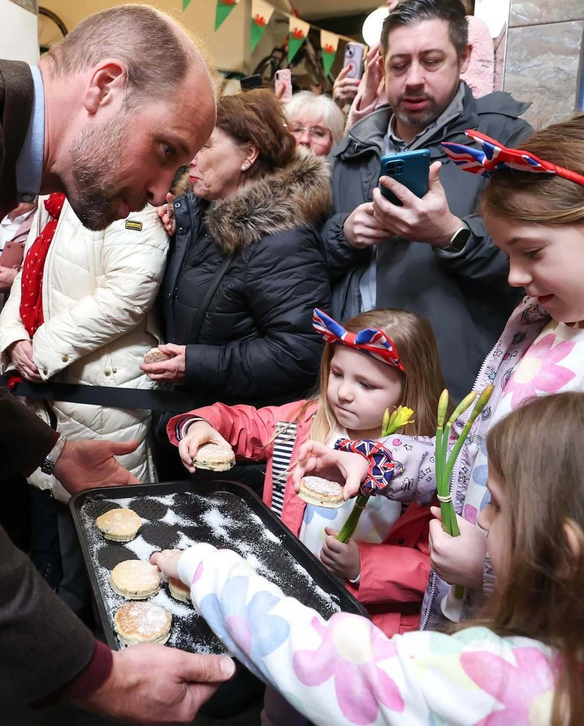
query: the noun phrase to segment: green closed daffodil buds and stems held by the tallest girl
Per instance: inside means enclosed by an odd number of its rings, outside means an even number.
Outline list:
[[[435,454],[435,465],[436,465],[436,488],[437,497],[440,502],[440,514],[442,515],[442,529],[451,535],[451,537],[458,537],[460,531],[458,530],[458,522],[456,521],[456,512],[452,503],[451,494],[451,478],[454,470],[454,465],[458,459],[464,441],[469,435],[472,425],[477,417],[482,413],[482,409],[487,405],[491,393],[493,393],[493,386],[487,386],[484,391],[480,394],[474,409],[472,409],[469,420],[464,425],[460,436],[454,444],[452,452],[448,457],[448,439],[453,423],[456,422],[466,409],[468,409],[477,398],[477,391],[472,391],[468,396],[458,404],[453,412],[453,415],[448,419],[446,425],[444,420],[446,417],[446,411],[448,409],[448,391],[444,390],[438,401],[438,414],[437,414],[437,426],[436,426],[436,454]],[[454,588],[454,595],[461,600],[464,597],[464,587],[456,585]]]

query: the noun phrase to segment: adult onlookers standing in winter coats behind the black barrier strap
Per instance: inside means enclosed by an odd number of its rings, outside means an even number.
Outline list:
[[[440,144],[469,127],[514,144],[530,131],[519,118],[527,104],[489,92],[492,44],[490,58],[477,53],[488,48],[484,24],[460,6],[438,3],[428,14],[414,1],[393,15],[361,81],[340,74],[336,102],[310,91],[284,107],[268,90],[219,99],[213,134],[158,212],[147,208],[96,234],[51,195],[36,215],[28,205],[4,219],[1,242],[28,232],[28,258],[50,244],[42,269],[0,267],[1,291],[12,285],[0,317],[4,375],[139,389],[170,383],[200,405],[281,404],[316,381],[314,308],[341,320],[397,308],[429,321],[448,386],[464,395],[518,295],[477,214],[485,179],[460,174]],[[347,101],[348,118],[340,110]],[[424,203],[396,208],[374,192],[380,158],[422,147],[443,166],[432,167]],[[459,229],[468,234],[454,248]],[[23,315],[28,298],[33,322]],[[144,364],[159,343],[168,359]],[[141,481],[186,476],[165,433],[172,411],[28,405],[67,436],[137,439],[123,464]],[[262,467],[241,465],[232,476],[259,489]],[[53,486],[41,473],[30,482]],[[55,516],[53,502],[35,496],[49,523],[33,540],[54,542],[43,533],[58,522],[60,555],[71,562],[66,511]],[[42,541],[33,549],[44,547],[54,550]]]

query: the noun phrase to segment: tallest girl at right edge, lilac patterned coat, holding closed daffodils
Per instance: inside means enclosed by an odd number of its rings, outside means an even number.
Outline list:
[[[475,131],[467,134],[478,144],[484,141]],[[490,383],[495,388],[451,479],[456,510],[464,517],[459,521],[461,537],[449,537],[438,521],[430,523],[434,571],[424,598],[422,628],[444,621],[444,616],[455,621],[468,617],[492,588],[485,538],[474,526],[489,500],[485,446],[489,429],[534,396],[584,391],[584,114],[536,131],[522,144],[522,152],[503,150],[493,157],[488,141],[486,153],[481,147],[452,146],[456,147],[451,149],[453,158],[463,168],[487,169],[491,175],[482,197],[485,225],[495,245],[509,256],[509,284],[524,287],[527,297],[511,315],[474,384],[477,391]],[[453,427],[455,436],[468,415]],[[403,473],[393,476],[382,493],[403,497],[404,481],[414,481],[408,498],[427,501],[435,492],[435,477],[433,462],[423,457],[433,441],[398,436],[385,444],[403,465]],[[301,457],[294,474],[296,486],[305,471],[327,476],[328,470],[333,476],[330,467],[336,468],[340,460],[350,474],[345,487],[350,494],[365,476],[366,464],[355,454],[334,454],[309,442]],[[447,582],[464,585],[466,600],[453,598]]]

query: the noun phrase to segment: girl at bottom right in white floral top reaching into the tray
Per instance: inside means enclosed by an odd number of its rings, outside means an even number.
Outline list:
[[[390,640],[361,616],[324,621],[210,544],[151,561],[189,584],[229,651],[316,726],[579,726],[583,439],[584,393],[535,399],[488,434],[479,523],[497,584],[453,635]]]

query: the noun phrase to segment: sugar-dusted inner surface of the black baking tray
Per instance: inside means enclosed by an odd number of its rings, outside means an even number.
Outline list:
[[[202,492],[193,492],[189,486],[174,486],[176,491],[164,494],[170,485],[162,485],[157,492],[162,491],[163,495],[156,497],[147,494],[147,486],[144,486],[144,494],[139,497],[134,494],[126,499],[110,499],[105,492],[96,492],[86,496],[78,509],[83,539],[99,587],[100,608],[102,613],[107,613],[107,632],[110,637],[115,613],[128,602],[110,587],[113,568],[123,560],[134,558],[147,562],[152,552],[173,547],[186,550],[198,542],[210,542],[216,547],[236,550],[250,567],[280,587],[285,595],[297,597],[305,605],[315,608],[325,619],[340,611],[345,598],[341,596],[340,599],[334,594],[334,586],[332,593],[326,592],[326,579],[317,580],[322,584],[319,587],[310,574],[308,560],[303,563],[308,567],[307,571],[289,552],[287,544],[283,543],[287,539],[275,529],[278,525],[272,524],[271,518],[264,523],[241,495],[220,490],[205,496]],[[118,496],[119,492],[120,489],[117,489]],[[150,517],[149,520],[142,517],[147,526],[143,525],[131,542],[111,542],[104,539],[96,528],[96,518],[115,505],[131,507],[141,517],[142,513]],[[165,579],[157,594],[144,602],[163,605],[172,613],[173,622],[167,645],[192,653],[226,652],[197,611],[191,605],[180,603],[170,596]],[[105,620],[104,628],[108,628]]]

